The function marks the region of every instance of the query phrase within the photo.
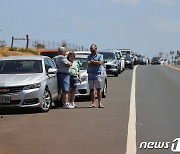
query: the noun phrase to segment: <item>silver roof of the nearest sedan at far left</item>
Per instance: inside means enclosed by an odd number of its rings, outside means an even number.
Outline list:
[[[44,58],[49,58],[47,56],[8,56],[8,57],[2,57],[0,60],[42,60]]]

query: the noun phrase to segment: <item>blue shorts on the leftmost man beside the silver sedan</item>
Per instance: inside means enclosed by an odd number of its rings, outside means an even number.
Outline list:
[[[58,88],[59,90],[62,89],[62,91],[69,91],[70,87],[70,75],[58,73]]]

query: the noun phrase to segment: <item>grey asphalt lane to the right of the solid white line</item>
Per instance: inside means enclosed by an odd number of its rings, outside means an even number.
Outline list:
[[[137,153],[173,153],[171,144],[180,137],[180,71],[139,66],[136,73]],[[168,149],[139,149],[143,141],[170,143]]]

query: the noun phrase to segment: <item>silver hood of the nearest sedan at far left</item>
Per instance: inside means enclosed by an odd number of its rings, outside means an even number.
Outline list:
[[[44,74],[0,74],[0,86],[22,86],[44,80]]]

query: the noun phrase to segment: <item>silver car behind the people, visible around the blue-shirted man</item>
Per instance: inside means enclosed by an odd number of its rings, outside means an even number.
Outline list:
[[[81,83],[77,84],[76,96],[90,96],[88,74],[87,74],[87,55],[76,55],[76,60],[80,63]],[[107,74],[104,66],[102,66],[101,72],[102,79],[102,97],[107,95]]]

